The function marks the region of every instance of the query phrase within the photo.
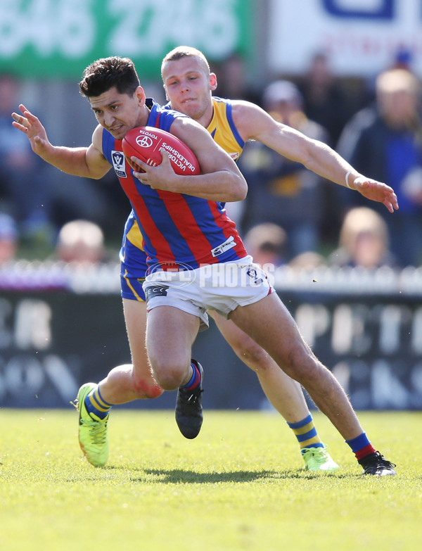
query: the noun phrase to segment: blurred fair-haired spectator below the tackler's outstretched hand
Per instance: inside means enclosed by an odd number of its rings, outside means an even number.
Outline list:
[[[388,227],[381,215],[368,207],[352,208],[340,230],[340,247],[328,262],[338,267],[396,267],[389,249]]]

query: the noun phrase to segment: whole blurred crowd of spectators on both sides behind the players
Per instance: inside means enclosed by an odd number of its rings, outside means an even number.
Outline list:
[[[248,196],[227,211],[257,262],[298,269],[422,264],[421,82],[409,52],[398,51],[368,82],[335,75],[324,52],[315,53],[300,78],[280,75],[262,89],[248,84],[237,54],[212,70],[215,95],[257,103],[279,122],[324,141],[362,174],[392,186],[399,200],[391,215],[250,142],[239,160]],[[110,174],[106,185],[86,179],[65,191],[11,125],[21,85],[0,75],[0,265],[27,257],[117,262],[129,214],[117,179]]]

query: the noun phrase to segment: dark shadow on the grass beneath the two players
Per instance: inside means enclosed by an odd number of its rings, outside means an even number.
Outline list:
[[[217,482],[252,482],[259,479],[276,479],[276,471],[228,471],[198,473],[184,469],[144,469],[145,474],[152,475],[158,483],[179,484],[215,484]]]

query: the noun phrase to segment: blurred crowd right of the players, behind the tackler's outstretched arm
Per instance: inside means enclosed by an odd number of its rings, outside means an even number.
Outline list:
[[[261,228],[267,242],[267,225],[276,224],[285,232],[279,265],[298,269],[422,264],[421,82],[409,51],[399,49],[390,67],[368,81],[336,77],[328,55],[318,52],[305,75],[270,82],[259,101],[240,86],[237,96],[324,141],[363,175],[392,186],[399,201],[390,214],[255,141],[239,160],[248,196],[235,208],[227,205],[243,236]]]

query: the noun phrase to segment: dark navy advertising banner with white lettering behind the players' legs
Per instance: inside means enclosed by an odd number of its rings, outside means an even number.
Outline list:
[[[357,410],[422,409],[422,296],[279,293]],[[213,323],[198,334],[193,357],[205,369],[205,407],[270,407]],[[2,293],[0,407],[71,407],[79,386],[129,362],[118,293]],[[175,399],[167,392],[129,407],[172,409]]]

